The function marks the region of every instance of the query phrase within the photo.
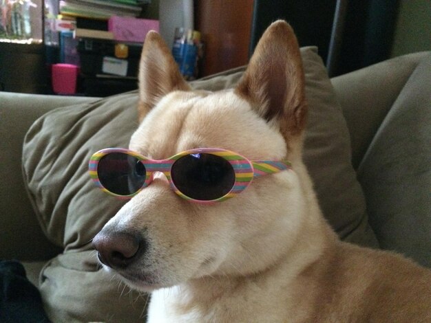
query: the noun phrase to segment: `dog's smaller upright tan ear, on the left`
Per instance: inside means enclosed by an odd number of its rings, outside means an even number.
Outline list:
[[[141,121],[158,100],[176,90],[188,91],[187,82],[182,78],[178,65],[162,37],[150,31],[145,37],[139,66],[139,105]]]

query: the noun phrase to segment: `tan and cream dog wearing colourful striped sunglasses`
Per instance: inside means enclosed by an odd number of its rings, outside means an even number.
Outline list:
[[[138,78],[130,150],[101,151],[93,169],[132,199],[93,245],[103,267],[151,292],[148,322],[431,322],[431,271],[341,242],[319,210],[288,23],[264,32],[235,89],[192,91],[156,32]],[[109,167],[133,170],[109,187]]]

